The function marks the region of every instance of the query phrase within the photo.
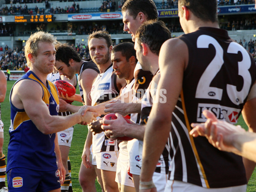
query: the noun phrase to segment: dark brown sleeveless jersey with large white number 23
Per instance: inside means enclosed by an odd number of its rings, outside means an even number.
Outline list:
[[[183,87],[172,115],[169,179],[206,188],[246,184],[242,158],[219,151],[205,137],[189,136],[192,122],[205,122],[202,111],[236,123],[256,80],[253,57],[227,31],[202,27],[179,37],[189,50]]]

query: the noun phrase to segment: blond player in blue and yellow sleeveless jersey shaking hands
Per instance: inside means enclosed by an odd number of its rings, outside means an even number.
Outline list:
[[[65,169],[55,133],[76,123],[89,123],[98,115],[82,107],[78,113],[57,116],[57,90],[47,81],[55,64],[55,42],[53,35],[46,32],[36,32],[29,37],[25,55],[30,70],[16,81],[10,93],[7,163],[10,191],[60,192]]]

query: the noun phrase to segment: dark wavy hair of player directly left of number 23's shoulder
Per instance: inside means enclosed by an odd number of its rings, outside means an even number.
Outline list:
[[[166,40],[172,38],[172,35],[163,21],[149,20],[139,27],[135,38],[139,44],[147,44],[151,52],[159,55],[161,46]]]

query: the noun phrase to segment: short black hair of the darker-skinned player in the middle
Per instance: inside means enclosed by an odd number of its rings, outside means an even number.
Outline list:
[[[113,47],[111,52],[121,52],[122,56],[126,58],[126,61],[129,61],[129,58],[134,56],[136,58],[136,51],[134,49],[134,44],[131,42],[124,42],[117,44]],[[137,58],[136,58],[137,63]]]

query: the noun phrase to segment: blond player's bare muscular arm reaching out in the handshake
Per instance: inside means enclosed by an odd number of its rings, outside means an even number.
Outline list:
[[[43,90],[40,84],[32,80],[21,80],[13,88],[12,103],[26,114],[43,134],[63,131],[76,123],[91,122],[98,114],[81,108],[78,113],[69,116],[51,116],[47,105],[42,100]]]

